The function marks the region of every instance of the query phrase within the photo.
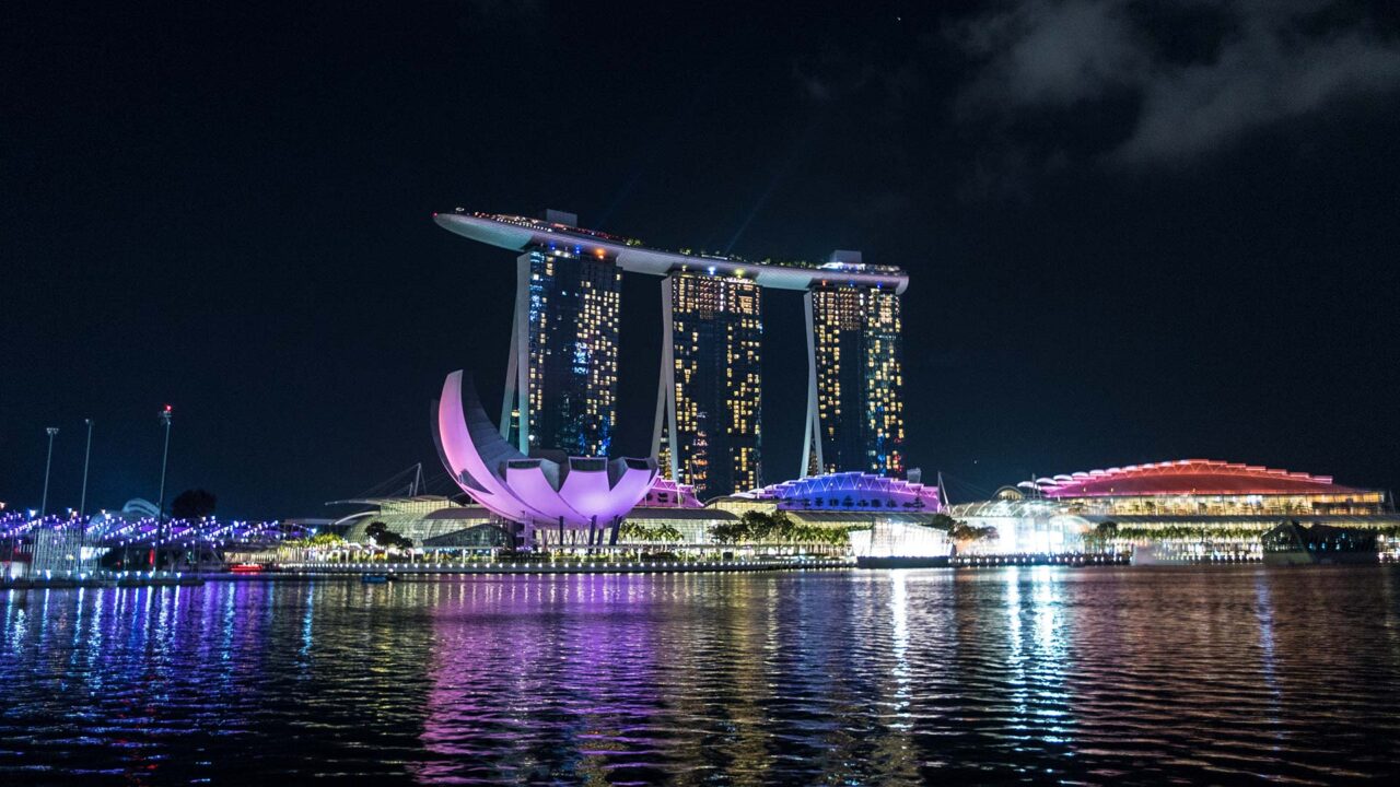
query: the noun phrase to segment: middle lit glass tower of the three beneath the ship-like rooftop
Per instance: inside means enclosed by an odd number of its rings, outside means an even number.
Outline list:
[[[661,283],[661,384],[652,452],[701,500],[762,486],[760,288],[675,272]]]

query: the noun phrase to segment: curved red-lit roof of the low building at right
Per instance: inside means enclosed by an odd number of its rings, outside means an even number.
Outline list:
[[[1331,476],[1291,473],[1261,465],[1179,459],[1089,471],[1025,482],[1046,497],[1112,497],[1152,494],[1347,494]]]

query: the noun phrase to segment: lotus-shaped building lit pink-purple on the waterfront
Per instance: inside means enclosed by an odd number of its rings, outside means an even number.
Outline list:
[[[493,514],[522,525],[528,546],[616,543],[623,517],[657,479],[654,459],[529,457],[490,422],[470,375],[454,371],[435,403],[437,443],[448,475]]]

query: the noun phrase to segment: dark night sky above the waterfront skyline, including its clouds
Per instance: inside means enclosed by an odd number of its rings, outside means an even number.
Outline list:
[[[498,401],[514,256],[435,210],[904,266],[907,457],[955,500],[1217,458],[1400,480],[1400,4],[8,3],[0,500],[343,513],[442,377]],[[623,293],[650,450],[659,279]],[[795,475],[801,295],[766,295]]]

